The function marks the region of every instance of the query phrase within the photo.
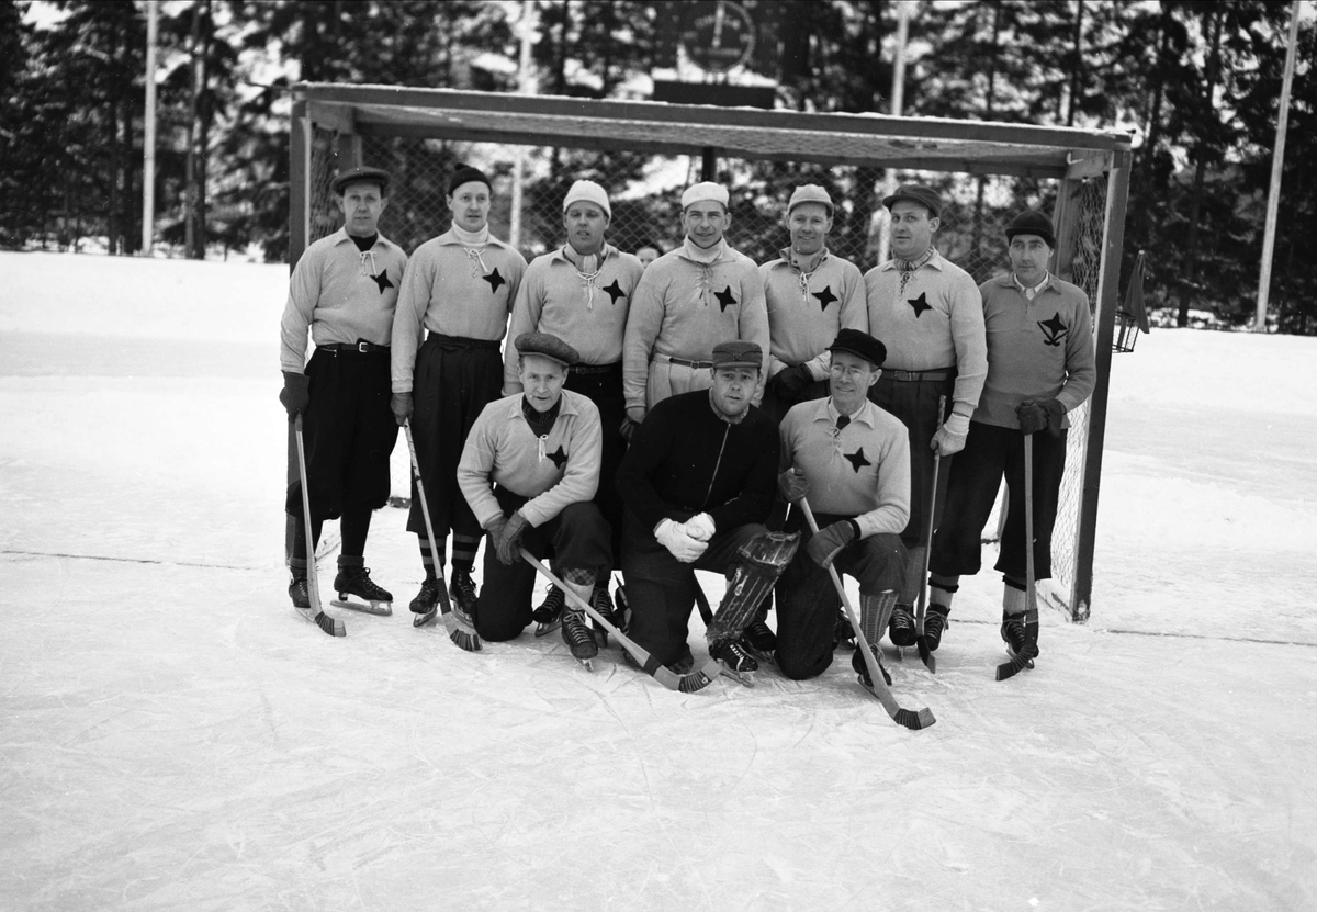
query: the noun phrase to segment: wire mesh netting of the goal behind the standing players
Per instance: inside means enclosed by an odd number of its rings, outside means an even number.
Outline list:
[[[340,167],[337,134],[316,128],[311,148],[309,240],[333,233],[342,216],[331,190]],[[512,174],[523,167],[519,236],[512,237]],[[485,142],[454,142],[412,137],[362,137],[362,163],[392,175],[389,207],[379,231],[408,253],[448,231],[448,178],[458,165],[473,165],[493,181],[490,231],[512,242],[527,261],[564,242],[562,199],[577,179],[591,179],[607,191],[612,208],[608,241],[626,252],[653,245],[666,252],[681,244],[681,192],[702,179],[698,156],[656,156],[637,152],[595,152],[570,148],[525,148]],[[822,185],[836,206],[828,248],[853,261],[861,271],[877,265],[886,232],[885,188],[897,181],[925,183],[942,194],[946,208],[935,244],[944,257],[981,283],[1009,269],[1005,228],[1021,210],[1051,212],[1056,204],[1054,181],[972,177],[934,171],[888,174],[869,166],[823,166],[744,158],[719,158],[716,179],[731,191],[727,241],[756,262],[766,262],[788,245],[786,202],[803,183]],[[1090,304],[1097,300],[1101,269],[1105,178],[1084,183],[1079,248],[1072,281]],[[1094,320],[1096,322],[1096,320]],[[1084,457],[1088,442],[1088,406],[1071,414],[1062,505],[1052,539],[1054,580],[1050,592],[1072,614],[1076,543],[1081,507]],[[407,469],[395,472],[406,480]],[[403,493],[406,484],[396,484]],[[996,518],[985,530],[993,539]]]

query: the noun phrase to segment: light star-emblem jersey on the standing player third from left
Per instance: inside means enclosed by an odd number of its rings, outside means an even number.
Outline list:
[[[605,245],[599,269],[591,274],[579,273],[561,248],[536,257],[516,291],[507,337],[548,332],[574,348],[581,364],[616,364],[631,295],[644,271],[639,260],[612,245]],[[520,393],[516,348],[506,348],[503,393]]]

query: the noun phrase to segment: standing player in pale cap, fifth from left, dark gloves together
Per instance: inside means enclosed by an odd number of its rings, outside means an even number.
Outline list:
[[[832,198],[823,187],[797,187],[786,204],[792,245],[759,268],[768,304],[768,386],[764,411],[781,420],[797,402],[827,395],[827,347],[842,329],[869,331],[864,277],[827,249]]]

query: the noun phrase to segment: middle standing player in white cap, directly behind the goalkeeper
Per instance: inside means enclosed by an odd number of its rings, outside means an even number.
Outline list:
[[[703,182],[681,195],[686,237],[649,265],[636,286],[622,355],[627,416],[633,424],[658,402],[709,389],[718,341],[751,341],[768,368],[768,311],[755,262],[723,240],[731,224],[727,188]],[[755,391],[764,394],[763,373]]]

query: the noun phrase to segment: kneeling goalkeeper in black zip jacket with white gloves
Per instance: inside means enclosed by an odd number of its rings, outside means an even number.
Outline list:
[[[798,539],[763,525],[778,448],[773,419],[751,406],[764,352],[734,340],[715,345],[711,360],[707,390],[662,399],[631,438],[618,470],[627,506],[622,569],[631,638],[677,673],[694,666],[686,631],[695,571],[724,573],[709,654],[744,680],[759,663],[741,635]]]

